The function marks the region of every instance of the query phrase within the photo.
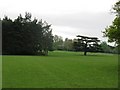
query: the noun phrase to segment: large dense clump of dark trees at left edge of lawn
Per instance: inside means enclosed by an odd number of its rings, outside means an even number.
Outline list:
[[[48,54],[52,49],[52,30],[46,21],[31,19],[20,14],[14,21],[5,16],[2,20],[3,54]]]

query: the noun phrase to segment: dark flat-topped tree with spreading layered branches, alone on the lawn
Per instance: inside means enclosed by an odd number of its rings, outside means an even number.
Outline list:
[[[87,55],[87,52],[100,52],[101,48],[98,44],[99,40],[96,37],[87,37],[81,36],[74,41],[73,47],[75,51],[83,51],[84,55]]]

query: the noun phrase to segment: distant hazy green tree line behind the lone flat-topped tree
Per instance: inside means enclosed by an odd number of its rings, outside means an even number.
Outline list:
[[[62,51],[75,51],[84,52],[84,43],[79,41],[79,39],[69,39],[65,38],[63,40],[62,36],[54,35],[53,37],[53,49]],[[107,42],[99,42],[97,44],[90,43],[87,45],[87,52],[100,52],[100,53],[118,53],[118,47],[110,46]]]

